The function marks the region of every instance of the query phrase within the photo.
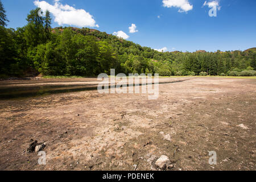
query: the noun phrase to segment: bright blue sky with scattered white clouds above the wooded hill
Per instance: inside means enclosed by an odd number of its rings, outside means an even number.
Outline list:
[[[8,27],[26,25],[26,16],[36,4],[51,7],[52,27],[85,25],[108,34],[125,34],[127,40],[164,51],[243,51],[256,47],[255,0],[36,1],[2,0],[10,20]],[[209,16],[215,7],[217,16]],[[131,24],[136,26],[133,33]]]

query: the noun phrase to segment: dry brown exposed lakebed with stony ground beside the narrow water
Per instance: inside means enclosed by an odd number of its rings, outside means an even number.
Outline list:
[[[1,81],[0,88],[96,81]],[[0,170],[158,170],[161,155],[171,160],[166,170],[256,169],[255,79],[160,81],[167,83],[158,100],[97,90],[0,100]],[[46,165],[27,152],[31,139],[47,142]]]

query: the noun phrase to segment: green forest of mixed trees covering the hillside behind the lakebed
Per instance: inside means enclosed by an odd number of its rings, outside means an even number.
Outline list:
[[[1,1],[0,6],[0,77],[93,77],[110,69],[160,76],[256,76],[256,48],[158,52],[90,28],[51,28],[50,13],[39,16],[38,8],[27,15],[26,26],[6,28]]]

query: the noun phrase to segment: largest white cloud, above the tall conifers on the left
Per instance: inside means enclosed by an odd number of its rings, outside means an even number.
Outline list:
[[[99,27],[93,19],[93,16],[85,10],[63,5],[59,1],[60,0],[55,0],[54,5],[50,5],[46,1],[37,0],[34,1],[34,5],[40,7],[44,12],[49,10],[54,16],[54,22],[59,25],[68,24],[77,27]]]

